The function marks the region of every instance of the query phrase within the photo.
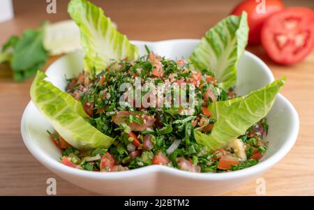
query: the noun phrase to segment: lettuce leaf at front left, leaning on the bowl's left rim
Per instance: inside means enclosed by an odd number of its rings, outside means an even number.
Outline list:
[[[31,100],[54,129],[80,150],[110,147],[114,139],[87,122],[81,103],[47,82],[45,77],[45,73],[38,71],[31,85]]]

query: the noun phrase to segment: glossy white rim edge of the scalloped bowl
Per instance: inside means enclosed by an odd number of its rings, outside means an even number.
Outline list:
[[[197,39],[173,39],[173,40],[160,40],[158,42],[133,40],[132,42],[156,44],[156,43],[165,43],[165,42],[171,42],[171,41],[176,42],[176,41],[185,41],[185,40],[200,41]],[[251,57],[252,59],[255,59],[258,63],[260,63],[263,66],[266,73],[269,74],[269,77],[271,78],[271,80],[274,80],[274,75],[271,73],[271,70],[260,58],[256,57],[251,52],[246,51],[245,54],[248,57]],[[59,59],[62,59],[62,58],[63,57],[60,57]],[[59,59],[57,59],[57,61],[59,61]],[[57,61],[54,61],[54,62],[57,62]],[[92,179],[126,179],[128,177],[139,176],[143,174],[151,174],[151,173],[165,173],[165,174],[170,174],[176,177],[181,177],[181,178],[186,178],[186,179],[200,179],[200,180],[211,180],[211,181],[213,180],[220,181],[220,180],[225,180],[225,179],[237,179],[240,177],[249,177],[250,175],[257,174],[258,172],[264,172],[265,170],[274,166],[290,151],[290,149],[293,147],[294,143],[296,142],[297,135],[299,133],[299,116],[297,114],[297,111],[294,109],[290,101],[287,100],[280,93],[278,94],[277,99],[283,100],[283,102],[287,105],[287,107],[289,107],[289,110],[292,111],[293,119],[295,121],[295,127],[292,131],[292,135],[290,135],[290,137],[285,141],[283,146],[280,149],[278,149],[278,151],[276,151],[276,153],[274,153],[272,156],[270,156],[266,160],[260,163],[257,163],[257,165],[253,165],[243,170],[237,170],[233,172],[193,173],[193,172],[186,172],[184,170],[178,170],[176,168],[167,167],[163,165],[149,165],[149,166],[140,167],[137,169],[128,170],[124,172],[104,173],[104,172],[90,172],[86,170],[77,170],[75,168],[68,167],[66,165],[63,165],[59,161],[55,160],[54,158],[51,158],[42,150],[39,150],[36,147],[33,147],[33,145],[31,145],[31,140],[29,139],[30,138],[29,135],[27,135],[27,129],[26,129],[27,128],[26,118],[28,114],[27,111],[30,110],[32,108],[31,106],[33,105],[31,101],[28,103],[22,115],[21,133],[22,133],[22,139],[24,141],[24,144],[27,146],[27,149],[29,149],[32,155],[40,163],[45,165],[45,167],[50,168],[54,172],[62,171],[62,172],[65,172],[66,174],[73,174],[78,177],[90,177]]]

